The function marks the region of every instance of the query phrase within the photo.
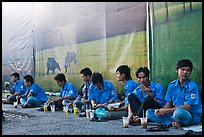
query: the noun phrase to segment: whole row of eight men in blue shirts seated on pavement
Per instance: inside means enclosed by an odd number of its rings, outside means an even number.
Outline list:
[[[63,106],[66,105],[76,105],[80,112],[85,112],[86,106],[91,105],[92,109],[104,108],[108,119],[128,116],[130,124],[133,124],[140,123],[140,117],[145,115],[148,121],[179,128],[198,123],[202,117],[198,86],[189,78],[192,69],[193,64],[190,60],[179,60],[176,64],[178,78],[170,82],[165,93],[161,84],[150,80],[147,67],[137,69],[135,74],[138,81],[135,82],[132,80],[130,68],[121,65],[116,69],[116,77],[124,83],[123,100],[118,100],[112,82],[104,80],[99,72],[92,74],[88,67],[80,71],[84,81],[80,92],[66,80],[63,73],[57,74],[54,80],[61,87],[60,95],[51,99],[47,98],[45,91],[34,82],[31,75],[24,76],[24,81],[21,81],[19,74],[13,73],[13,87],[6,85],[11,93],[6,102],[20,101],[22,108],[41,107],[44,103],[49,105],[52,102],[56,110],[63,110]],[[107,107],[115,102],[119,102],[119,107]]]

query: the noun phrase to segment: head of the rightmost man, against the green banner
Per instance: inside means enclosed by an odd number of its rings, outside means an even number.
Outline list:
[[[193,70],[193,64],[188,59],[179,60],[176,64],[176,73],[179,79],[184,81],[189,79],[191,72]]]

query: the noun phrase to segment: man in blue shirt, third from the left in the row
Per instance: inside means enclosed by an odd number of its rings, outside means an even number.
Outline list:
[[[51,102],[55,104],[56,110],[62,110],[63,106],[68,106],[70,109],[73,108],[73,102],[78,96],[78,92],[72,83],[67,82],[65,75],[59,73],[54,77],[57,85],[61,87],[59,97],[49,99],[46,104],[49,105]],[[48,107],[50,110],[50,107]]]

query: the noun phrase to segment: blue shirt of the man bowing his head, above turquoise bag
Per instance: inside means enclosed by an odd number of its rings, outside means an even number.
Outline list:
[[[89,89],[89,100],[95,100],[96,104],[104,104],[109,100],[116,100],[116,91],[111,82],[104,80],[103,88],[99,89],[95,85],[91,85]]]

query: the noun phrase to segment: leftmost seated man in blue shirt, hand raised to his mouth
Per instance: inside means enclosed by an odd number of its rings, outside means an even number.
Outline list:
[[[23,95],[26,92],[26,86],[24,85],[24,82],[22,80],[20,80],[19,73],[15,72],[15,73],[11,74],[11,81],[14,83],[12,88],[9,87],[9,84],[5,85],[5,87],[7,88],[9,93],[11,94],[7,97],[6,102],[8,104],[13,104],[13,102],[17,101],[16,97],[18,95]]]

